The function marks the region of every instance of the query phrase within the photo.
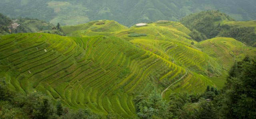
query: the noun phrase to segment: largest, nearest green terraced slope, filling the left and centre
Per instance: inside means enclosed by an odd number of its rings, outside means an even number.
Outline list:
[[[0,63],[0,78],[10,79],[19,92],[36,89],[73,108],[90,107],[126,118],[135,116],[134,95],[185,73],[182,67],[128,41],[102,36],[3,36]]]

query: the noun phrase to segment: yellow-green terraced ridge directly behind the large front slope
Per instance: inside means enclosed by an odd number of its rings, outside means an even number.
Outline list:
[[[135,39],[130,42],[183,68],[209,76],[221,74],[221,66],[214,59],[178,42],[148,39]]]

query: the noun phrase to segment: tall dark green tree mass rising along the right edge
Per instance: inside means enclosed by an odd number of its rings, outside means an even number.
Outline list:
[[[256,59],[244,58],[232,66],[220,101],[226,118],[256,117]]]

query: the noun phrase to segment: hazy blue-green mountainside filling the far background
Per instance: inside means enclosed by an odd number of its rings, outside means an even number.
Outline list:
[[[202,10],[220,10],[236,20],[256,20],[255,0],[0,0],[10,17],[30,17],[76,25],[115,20],[125,26],[158,20],[176,21]]]

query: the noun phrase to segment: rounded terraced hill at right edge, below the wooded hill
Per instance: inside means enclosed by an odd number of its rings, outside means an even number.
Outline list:
[[[234,61],[240,61],[245,56],[254,57],[255,48],[250,48],[233,38],[213,38],[196,44],[203,52],[220,62],[224,69],[230,69]]]

